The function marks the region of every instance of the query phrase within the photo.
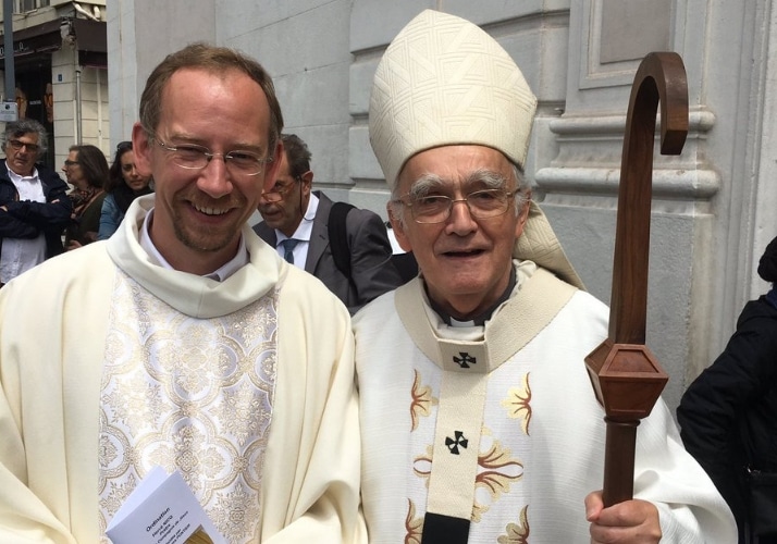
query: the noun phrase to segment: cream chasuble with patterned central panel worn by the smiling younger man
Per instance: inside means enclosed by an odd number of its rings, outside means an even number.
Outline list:
[[[248,225],[222,282],[158,265],[153,201],[0,292],[0,542],[104,542],[155,465],[230,542],[366,542],[346,308]]]

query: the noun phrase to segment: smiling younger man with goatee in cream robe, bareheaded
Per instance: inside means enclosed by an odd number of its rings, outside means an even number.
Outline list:
[[[0,542],[106,542],[156,467],[225,542],[363,542],[350,318],[246,223],[282,126],[252,59],[168,55],[132,138],[155,195],[0,290]]]

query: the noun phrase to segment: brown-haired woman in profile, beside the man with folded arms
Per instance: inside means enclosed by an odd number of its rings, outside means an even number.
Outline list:
[[[62,172],[73,185],[73,214],[65,231],[67,251],[91,244],[100,228],[103,186],[108,181],[108,161],[100,148],[90,145],[71,146]]]

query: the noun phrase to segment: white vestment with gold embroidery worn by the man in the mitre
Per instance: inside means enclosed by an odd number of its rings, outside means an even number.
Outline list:
[[[430,528],[446,544],[590,544],[584,497],[602,486],[605,428],[583,358],[608,310],[517,267],[485,327],[444,324],[421,280],[355,316],[371,544],[420,544]],[[663,401],[639,428],[634,494],[658,508],[662,542],[730,544],[730,514]]]

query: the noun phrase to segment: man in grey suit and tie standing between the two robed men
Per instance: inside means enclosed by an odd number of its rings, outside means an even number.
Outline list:
[[[308,146],[294,134],[284,134],[282,139],[284,152],[276,182],[262,195],[259,213],[263,221],[254,231],[287,261],[321,280],[353,316],[403,283],[391,262],[385,225],[369,210],[349,208],[344,219],[331,213],[334,202],[323,193],[311,190]],[[330,240],[330,222],[338,221],[337,217],[345,221],[345,240]],[[338,247],[347,248],[347,267],[336,263]]]

